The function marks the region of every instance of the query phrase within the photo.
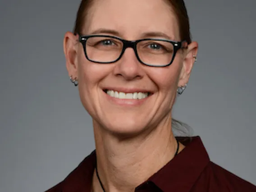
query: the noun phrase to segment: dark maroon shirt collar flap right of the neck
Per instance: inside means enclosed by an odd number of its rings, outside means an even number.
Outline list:
[[[200,137],[177,138],[186,147],[148,179],[163,192],[189,192],[210,162]]]

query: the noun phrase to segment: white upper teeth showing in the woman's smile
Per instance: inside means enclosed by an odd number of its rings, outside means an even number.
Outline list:
[[[144,99],[148,96],[148,93],[134,92],[134,93],[124,93],[113,90],[108,90],[107,94],[111,97],[119,99]]]

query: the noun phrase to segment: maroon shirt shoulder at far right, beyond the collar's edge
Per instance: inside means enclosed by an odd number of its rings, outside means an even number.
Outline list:
[[[209,162],[198,179],[198,184],[209,192],[256,192],[256,186],[232,174],[228,170]]]

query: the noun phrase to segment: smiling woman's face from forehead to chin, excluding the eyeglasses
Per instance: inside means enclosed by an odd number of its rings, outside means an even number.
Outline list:
[[[82,31],[92,33],[126,40],[181,40],[175,14],[164,0],[96,0]],[[170,66],[149,67],[137,60],[132,48],[116,63],[97,64],[86,59],[81,43],[75,46],[73,64],[67,63],[69,75],[77,76],[82,104],[94,123],[112,133],[137,134],[169,119],[177,87],[187,82],[192,67],[187,50],[178,50]],[[117,91],[119,97],[151,94],[144,99],[120,99],[106,90]]]

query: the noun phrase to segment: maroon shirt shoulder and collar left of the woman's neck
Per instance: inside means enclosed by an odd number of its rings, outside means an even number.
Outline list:
[[[46,192],[71,192],[84,187],[90,187],[95,162],[96,154],[95,151],[93,151],[62,182],[50,188]],[[74,187],[76,189],[74,189]]]

